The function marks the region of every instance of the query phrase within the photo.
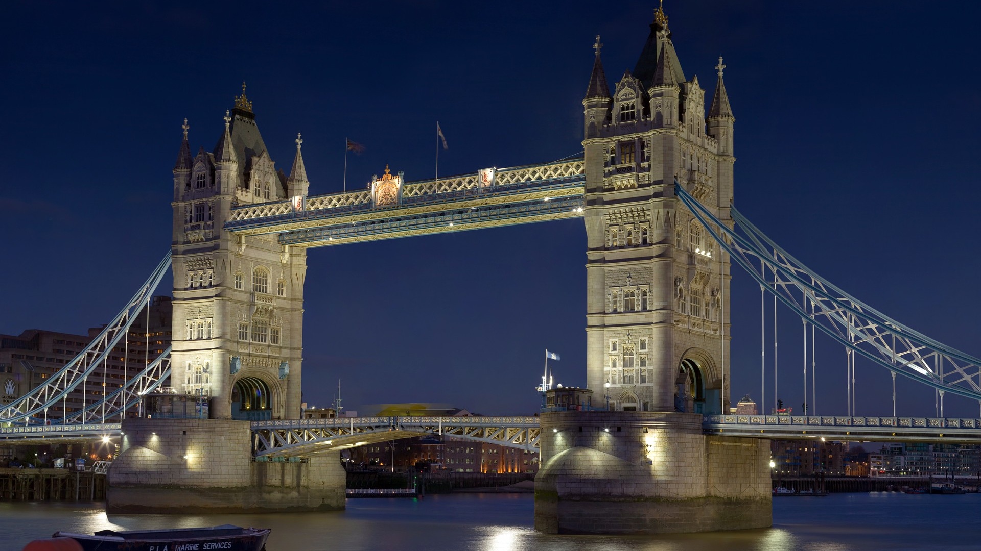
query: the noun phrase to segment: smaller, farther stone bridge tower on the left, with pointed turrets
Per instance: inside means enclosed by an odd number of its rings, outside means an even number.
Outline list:
[[[211,396],[213,419],[298,418],[306,251],[223,225],[236,206],[307,194],[302,140],[287,178],[270,158],[244,84],[212,151],[191,157],[187,129],[184,121],[174,167],[171,384]]]

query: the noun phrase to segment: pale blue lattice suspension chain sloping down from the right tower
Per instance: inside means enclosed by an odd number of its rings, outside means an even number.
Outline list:
[[[815,274],[735,208],[723,224],[681,185],[676,192],[733,262],[807,323],[894,374],[981,402],[981,360],[887,317]]]

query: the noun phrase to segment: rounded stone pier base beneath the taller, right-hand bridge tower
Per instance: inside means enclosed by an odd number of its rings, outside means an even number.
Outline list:
[[[535,527],[627,534],[773,522],[767,440],[705,436],[697,414],[542,414]]]

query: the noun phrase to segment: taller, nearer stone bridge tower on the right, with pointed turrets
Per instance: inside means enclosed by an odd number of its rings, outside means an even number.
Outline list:
[[[615,410],[720,412],[729,402],[729,262],[674,182],[730,220],[725,66],[720,58],[706,120],[705,92],[682,72],[660,8],[634,72],[612,93],[600,47],[597,36],[583,100],[588,386]]]

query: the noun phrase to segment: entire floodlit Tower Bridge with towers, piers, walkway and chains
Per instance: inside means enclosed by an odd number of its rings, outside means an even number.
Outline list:
[[[769,438],[978,441],[981,420],[945,418],[943,398],[981,403],[981,360],[816,275],[734,207],[726,66],[720,58],[707,103],[698,77],[682,71],[661,9],[649,26],[635,69],[612,89],[596,37],[581,158],[411,182],[386,168],[368,189],[310,195],[301,137],[286,176],[244,88],[213,150],[191,155],[185,122],[171,252],[86,350],[0,409],[12,424],[0,438],[116,435],[123,452],[108,508],[130,513],[342,508],[339,450],[395,435],[538,446],[536,526],[590,533],[770,526]],[[603,389],[605,407],[540,418],[296,419],[307,249],[568,218],[586,227],[587,386]],[[894,407],[856,417],[853,399],[845,415],[728,415],[733,262],[850,359],[935,389],[938,415],[897,417]],[[168,269],[166,359],[68,412],[67,393]],[[208,401],[209,419],[122,419],[168,377]],[[63,417],[49,418],[59,401]],[[264,461],[281,457],[300,461]]]

